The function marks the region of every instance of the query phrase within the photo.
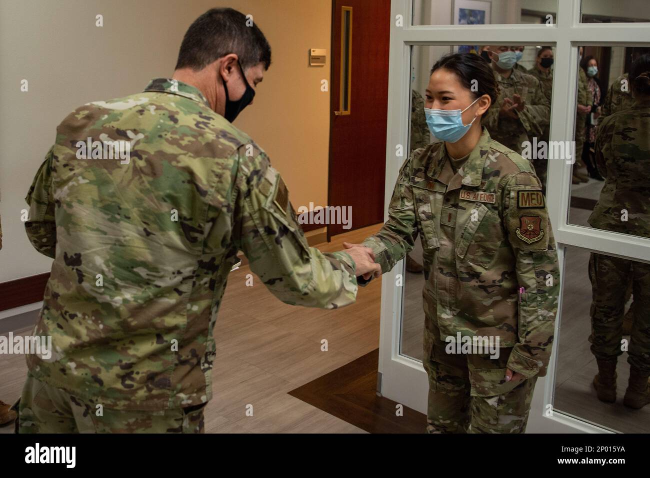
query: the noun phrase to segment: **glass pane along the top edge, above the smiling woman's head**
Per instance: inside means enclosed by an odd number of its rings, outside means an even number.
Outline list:
[[[555,25],[557,11],[557,0],[413,0],[413,25]]]

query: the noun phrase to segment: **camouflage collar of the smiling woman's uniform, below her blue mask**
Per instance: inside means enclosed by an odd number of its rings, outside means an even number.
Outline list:
[[[429,177],[435,177],[439,181],[448,185],[447,190],[458,189],[461,186],[480,186],[483,179],[483,168],[486,162],[486,155],[489,152],[489,132],[487,132],[486,127],[483,127],[483,132],[481,137],[478,139],[478,143],[474,146],[474,149],[469,153],[469,158],[463,164],[462,170],[463,175],[459,173],[454,175],[451,164],[447,159],[447,147],[443,142],[441,146],[441,155],[437,161],[432,162],[427,174]]]

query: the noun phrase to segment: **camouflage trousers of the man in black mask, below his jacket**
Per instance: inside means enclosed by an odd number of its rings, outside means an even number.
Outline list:
[[[203,433],[206,403],[159,411],[99,409],[55,386],[27,375],[12,409],[16,433]]]

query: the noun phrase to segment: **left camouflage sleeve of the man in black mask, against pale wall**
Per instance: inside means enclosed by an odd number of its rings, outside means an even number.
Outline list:
[[[38,168],[25,201],[29,205],[25,231],[34,248],[48,257],[54,258],[57,249],[57,225],[51,175],[51,162],[54,147],[47,151],[44,162]]]

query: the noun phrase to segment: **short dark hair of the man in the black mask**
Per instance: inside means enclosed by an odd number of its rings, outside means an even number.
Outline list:
[[[233,8],[211,8],[185,32],[176,69],[198,71],[230,53],[239,57],[244,69],[259,62],[268,69],[271,64],[271,47],[252,19]]]

